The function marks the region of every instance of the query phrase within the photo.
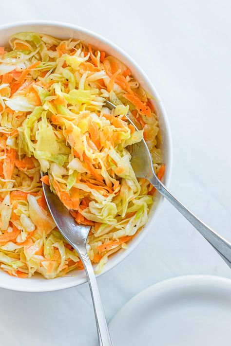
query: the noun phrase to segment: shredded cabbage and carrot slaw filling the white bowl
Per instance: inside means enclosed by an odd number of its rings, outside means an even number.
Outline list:
[[[146,224],[153,203],[129,146],[145,138],[158,177],[164,173],[150,95],[122,62],[80,40],[19,33],[9,44],[0,49],[0,268],[47,279],[83,269],[48,212],[42,170],[76,222],[91,226],[87,251],[100,272]]]

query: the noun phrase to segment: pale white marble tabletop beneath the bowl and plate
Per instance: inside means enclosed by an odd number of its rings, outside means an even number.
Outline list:
[[[1,23],[60,20],[113,40],[149,74],[173,134],[172,192],[231,240],[231,48],[229,0],[7,0]],[[186,274],[231,271],[165,202],[139,247],[98,278],[110,321],[136,293]],[[90,346],[95,321],[87,285],[49,293],[0,289],[1,346]]]

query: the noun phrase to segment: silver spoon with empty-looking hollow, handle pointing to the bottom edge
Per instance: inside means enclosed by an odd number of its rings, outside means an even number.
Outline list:
[[[44,176],[43,173],[42,176]],[[96,317],[98,344],[100,346],[113,346],[98,291],[96,276],[86,250],[86,241],[91,227],[78,225],[69,213],[69,210],[59,200],[58,196],[50,190],[50,187],[43,182],[42,187],[48,209],[50,210],[51,216],[53,217],[59,232],[77,251],[79,258],[84,265]]]

